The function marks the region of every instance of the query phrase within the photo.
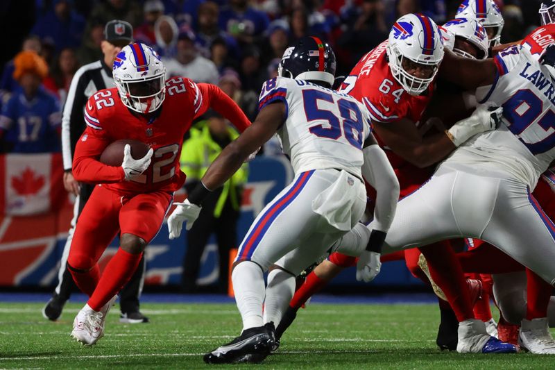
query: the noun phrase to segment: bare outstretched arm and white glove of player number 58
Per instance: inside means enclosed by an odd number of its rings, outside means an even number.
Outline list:
[[[244,160],[272,137],[283,123],[284,117],[284,103],[278,101],[269,104],[260,110],[253,124],[237,140],[225,146],[185,202],[175,203],[177,207],[168,219],[170,239],[179,237],[183,222],[187,222],[187,230],[191,228],[205,197],[229,180],[243,165]]]

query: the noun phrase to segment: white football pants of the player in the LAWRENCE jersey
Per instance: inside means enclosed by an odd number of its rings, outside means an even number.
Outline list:
[[[489,242],[555,284],[555,225],[527,185],[452,163],[399,202],[383,253],[459,237]]]

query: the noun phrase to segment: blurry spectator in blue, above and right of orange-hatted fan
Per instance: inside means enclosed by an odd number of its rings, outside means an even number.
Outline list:
[[[56,51],[80,46],[85,19],[71,9],[68,0],[56,0],[53,8],[38,19],[31,33],[56,45]]]

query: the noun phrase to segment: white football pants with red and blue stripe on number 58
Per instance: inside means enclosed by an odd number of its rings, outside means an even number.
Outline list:
[[[315,211],[318,199],[321,213]],[[237,260],[256,262],[264,271],[275,263],[298,275],[355,226],[365,208],[366,189],[355,176],[336,169],[297,174],[250,226]],[[345,222],[343,230],[331,225]]]

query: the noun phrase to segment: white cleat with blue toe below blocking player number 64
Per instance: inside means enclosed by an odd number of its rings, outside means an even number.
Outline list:
[[[488,335],[484,321],[468,319],[459,323],[459,353],[516,353],[513,344],[501,342]]]

